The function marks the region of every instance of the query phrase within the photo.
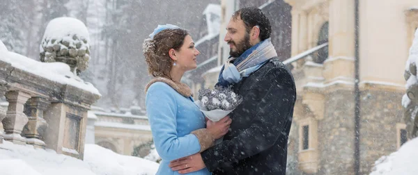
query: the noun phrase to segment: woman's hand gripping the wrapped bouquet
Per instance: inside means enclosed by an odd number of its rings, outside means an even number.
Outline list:
[[[212,122],[208,120],[206,122],[206,129],[212,134],[213,138],[219,139],[222,138],[226,133],[228,133],[229,126],[231,126],[232,119],[229,116],[224,117],[218,122]]]

